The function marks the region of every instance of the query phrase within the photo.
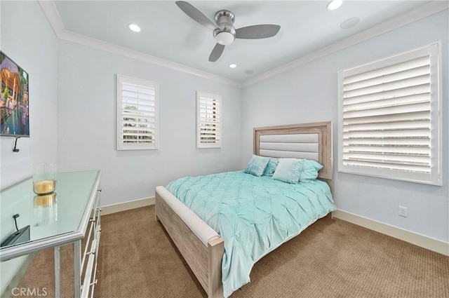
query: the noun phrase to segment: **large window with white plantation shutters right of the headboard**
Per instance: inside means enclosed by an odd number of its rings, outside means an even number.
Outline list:
[[[339,72],[340,172],[441,185],[439,47]]]

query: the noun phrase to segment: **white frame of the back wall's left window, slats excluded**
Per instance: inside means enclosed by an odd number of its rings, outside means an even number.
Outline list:
[[[121,142],[122,136],[121,131],[123,128],[122,124],[122,97],[121,97],[121,91],[122,91],[122,84],[123,82],[135,84],[138,86],[145,86],[146,88],[153,88],[154,89],[154,105],[155,105],[155,113],[154,113],[154,122],[155,122],[155,129],[154,129],[154,135],[155,135],[155,141],[153,143],[123,143]],[[117,150],[148,150],[148,149],[159,149],[159,83],[147,81],[143,79],[136,79],[129,76],[122,76],[120,74],[117,75]]]

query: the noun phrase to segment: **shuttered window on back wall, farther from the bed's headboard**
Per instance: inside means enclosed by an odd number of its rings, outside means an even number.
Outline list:
[[[117,76],[117,150],[159,148],[158,83]]]

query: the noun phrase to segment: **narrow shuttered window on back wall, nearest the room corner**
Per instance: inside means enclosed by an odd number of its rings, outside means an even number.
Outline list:
[[[196,91],[196,148],[222,146],[222,97]]]

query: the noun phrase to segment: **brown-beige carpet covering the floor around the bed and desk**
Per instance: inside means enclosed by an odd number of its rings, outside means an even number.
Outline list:
[[[73,297],[71,255],[72,245],[62,249],[62,297]],[[232,298],[443,298],[449,297],[449,257],[339,219],[320,219],[257,262],[250,278]],[[19,287],[46,287],[46,297],[54,296],[53,250],[39,252]],[[206,293],[150,206],[102,217],[94,297]]]

